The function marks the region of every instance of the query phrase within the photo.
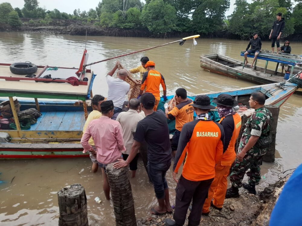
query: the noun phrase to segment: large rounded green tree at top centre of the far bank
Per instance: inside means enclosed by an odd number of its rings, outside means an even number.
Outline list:
[[[143,8],[141,21],[152,33],[170,32],[176,29],[176,10],[163,0],[151,0]]]

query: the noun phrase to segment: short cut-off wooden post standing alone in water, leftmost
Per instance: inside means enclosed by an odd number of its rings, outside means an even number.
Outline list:
[[[58,192],[59,226],[88,226],[87,199],[81,184],[72,184]]]

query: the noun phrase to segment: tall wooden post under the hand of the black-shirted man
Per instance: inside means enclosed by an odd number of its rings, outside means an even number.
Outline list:
[[[117,226],[137,226],[128,167],[114,169],[113,163],[106,166]]]

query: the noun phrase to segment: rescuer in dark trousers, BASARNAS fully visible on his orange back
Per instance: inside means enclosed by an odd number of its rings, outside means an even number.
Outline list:
[[[223,154],[224,131],[222,125],[212,121],[208,115],[209,110],[215,108],[210,105],[210,98],[198,95],[191,106],[198,116],[194,121],[186,123],[180,133],[172,173],[177,183],[174,221],[167,218],[168,226],[185,224],[192,199],[188,225],[199,225],[202,206],[215,177],[215,165]],[[182,175],[177,180],[176,174],[186,153]]]

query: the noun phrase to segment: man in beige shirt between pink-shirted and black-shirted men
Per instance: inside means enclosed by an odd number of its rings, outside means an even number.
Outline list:
[[[140,101],[137,98],[131,99],[128,106],[129,110],[121,112],[116,118],[116,121],[120,123],[123,130],[123,139],[126,151],[122,153],[125,161],[130,155],[131,147],[134,142],[131,129],[135,128],[137,123],[144,118],[137,112],[138,108],[140,107]],[[137,153],[134,159],[129,163],[131,177],[135,177],[138,156],[139,154]]]

